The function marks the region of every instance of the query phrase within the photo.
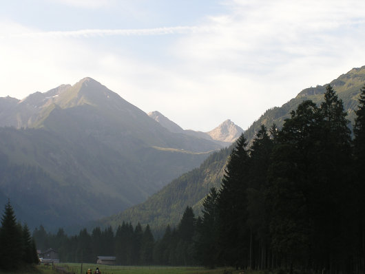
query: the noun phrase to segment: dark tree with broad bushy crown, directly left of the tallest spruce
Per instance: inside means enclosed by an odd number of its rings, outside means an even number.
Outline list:
[[[313,187],[312,161],[316,153],[319,110],[304,101],[285,120],[273,147],[265,193],[271,246],[282,263],[306,265],[313,228],[309,196]]]

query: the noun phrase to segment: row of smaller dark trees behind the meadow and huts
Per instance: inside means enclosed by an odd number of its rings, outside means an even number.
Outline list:
[[[59,252],[62,262],[96,262],[97,256],[115,256],[122,265],[189,265],[196,264],[194,240],[196,218],[187,207],[178,226],[167,226],[163,238],[154,240],[149,225],[138,223],[118,226],[115,233],[111,226],[104,230],[96,227],[92,233],[82,229],[79,235],[67,236],[63,229],[56,234],[47,233],[43,226],[35,229],[33,237],[41,250],[52,247]]]

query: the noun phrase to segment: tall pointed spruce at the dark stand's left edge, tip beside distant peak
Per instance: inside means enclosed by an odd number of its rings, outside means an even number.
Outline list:
[[[244,267],[249,262],[249,229],[247,229],[247,187],[249,154],[242,134],[232,150],[219,192],[219,245],[222,264]]]

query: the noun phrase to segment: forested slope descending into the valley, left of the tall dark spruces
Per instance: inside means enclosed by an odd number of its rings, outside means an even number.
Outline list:
[[[118,226],[123,220],[149,224],[154,229],[165,229],[166,224],[177,224],[187,206],[200,209],[211,187],[220,187],[227,157],[231,148],[214,152],[199,168],[173,180],[158,193],[122,213],[105,218],[96,224]]]

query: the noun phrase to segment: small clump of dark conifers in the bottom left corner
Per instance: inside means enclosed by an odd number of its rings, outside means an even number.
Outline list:
[[[15,271],[39,262],[35,242],[27,224],[17,222],[10,201],[5,206],[0,227],[0,269]]]

